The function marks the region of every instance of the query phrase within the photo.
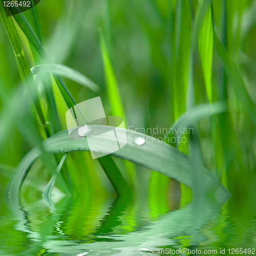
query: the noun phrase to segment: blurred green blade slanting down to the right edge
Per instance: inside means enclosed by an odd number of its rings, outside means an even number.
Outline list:
[[[246,112],[251,117],[252,121],[256,123],[256,105],[250,98],[243,77],[241,76],[238,68],[234,65],[231,58],[229,57],[229,54],[225,47],[223,46],[219,35],[215,32],[214,34],[214,41],[215,46],[220,54],[220,57],[223,61],[225,70],[232,81],[232,86],[234,89],[234,92],[236,93],[236,96],[241,101],[242,105],[244,106]]]

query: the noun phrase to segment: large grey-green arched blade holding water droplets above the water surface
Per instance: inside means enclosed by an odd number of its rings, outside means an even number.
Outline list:
[[[109,131],[108,126],[92,125],[92,128],[98,134],[103,134]],[[120,150],[112,153],[112,156],[126,159],[144,167],[154,169],[159,173],[177,180],[178,182],[182,182],[192,189],[194,188],[193,181],[191,180],[191,175],[193,174],[191,174],[189,157],[187,155],[157,139],[152,141],[152,137],[145,134],[126,130],[126,136],[128,138],[126,145]],[[147,142],[141,146],[134,144],[133,140],[137,136],[144,137]],[[98,149],[98,152],[102,153],[109,152],[111,145],[114,145],[111,138],[107,137],[97,139],[94,137],[94,141],[94,147]],[[67,130],[62,131],[44,141],[44,147],[50,154],[71,151],[90,151],[87,141],[71,139]],[[29,172],[29,168],[35,161],[35,158],[39,155],[39,151],[34,149],[23,158],[11,183],[11,189],[9,190],[10,193],[16,196],[18,195],[20,186]],[[217,198],[220,197],[223,199],[223,197],[229,196],[225,187],[205,168],[202,168],[201,179],[204,181],[207,191],[215,191],[214,194]]]

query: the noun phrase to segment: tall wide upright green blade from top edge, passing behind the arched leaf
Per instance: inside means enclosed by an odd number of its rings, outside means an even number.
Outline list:
[[[186,111],[186,92],[188,79],[189,46],[191,40],[191,10],[188,1],[176,2],[175,31],[173,31],[173,88],[174,88],[174,117],[177,120]],[[188,154],[187,143],[182,143],[179,150]],[[153,174],[157,176],[158,174]],[[165,195],[168,183],[162,178],[165,185]],[[159,183],[160,185],[161,183]],[[182,200],[188,202],[191,193],[181,184]]]

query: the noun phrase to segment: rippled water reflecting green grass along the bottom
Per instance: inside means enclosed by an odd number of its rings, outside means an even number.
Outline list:
[[[125,256],[162,249],[164,255],[166,248],[189,248],[217,249],[219,255],[220,248],[226,254],[228,248],[256,248],[254,201],[172,202],[163,207],[144,199],[10,197],[1,201],[0,254]]]

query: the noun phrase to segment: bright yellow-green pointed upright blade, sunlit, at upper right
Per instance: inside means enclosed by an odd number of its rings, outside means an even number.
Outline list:
[[[211,8],[207,11],[199,34],[199,53],[209,102],[212,102],[212,53],[214,50],[214,25]]]

